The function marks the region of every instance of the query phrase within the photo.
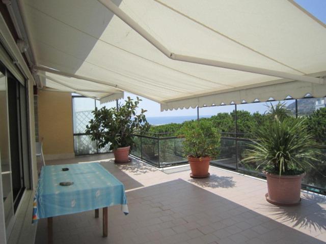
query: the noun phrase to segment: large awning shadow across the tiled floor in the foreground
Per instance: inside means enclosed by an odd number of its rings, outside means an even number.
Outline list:
[[[128,191],[127,198],[129,215],[109,208],[107,238],[101,215],[88,211],[53,218],[55,243],[324,243],[183,179]],[[46,243],[44,220],[36,243]]]

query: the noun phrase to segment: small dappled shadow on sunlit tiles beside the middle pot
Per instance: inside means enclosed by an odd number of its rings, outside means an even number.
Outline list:
[[[189,182],[195,183],[202,188],[232,188],[235,187],[235,181],[232,176],[218,176],[211,174],[208,178],[189,179]]]

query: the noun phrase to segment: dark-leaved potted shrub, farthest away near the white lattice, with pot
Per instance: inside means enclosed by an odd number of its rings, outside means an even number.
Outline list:
[[[141,110],[137,114],[138,105],[142,101],[137,97],[136,101],[128,99],[125,104],[119,105],[119,108],[102,107],[95,108],[92,112],[94,119],[89,121],[86,126],[86,134],[91,136],[92,140],[97,140],[99,148],[104,147],[111,142],[110,150],[113,150],[116,163],[128,162],[130,146],[133,144],[132,134],[148,131],[145,112]]]

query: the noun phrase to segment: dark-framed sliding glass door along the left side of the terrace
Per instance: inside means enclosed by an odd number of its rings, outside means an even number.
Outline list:
[[[30,187],[27,97],[25,84],[0,63],[0,172],[7,234],[24,190]]]

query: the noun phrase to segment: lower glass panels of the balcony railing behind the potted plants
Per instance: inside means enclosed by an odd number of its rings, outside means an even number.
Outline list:
[[[235,170],[240,173],[265,178],[261,170],[256,170],[257,164],[246,163],[241,160],[244,151],[252,142],[252,134],[221,133],[220,154],[210,164],[218,167]],[[158,168],[187,164],[184,157],[182,138],[174,133],[147,133],[146,135],[133,135],[134,145],[130,154]],[[326,194],[326,149],[314,168],[308,170],[303,180],[303,189]]]

